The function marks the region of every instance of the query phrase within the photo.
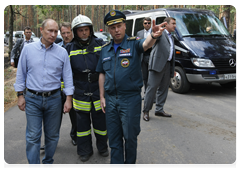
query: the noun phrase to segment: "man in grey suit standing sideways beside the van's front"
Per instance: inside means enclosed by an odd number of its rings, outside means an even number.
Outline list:
[[[170,78],[174,76],[175,48],[171,32],[176,28],[176,19],[167,17],[166,29],[152,47],[149,59],[148,85],[143,107],[143,120],[149,121],[149,110],[152,109],[153,101],[157,91],[156,116],[171,117],[163,110],[167,99]]]

